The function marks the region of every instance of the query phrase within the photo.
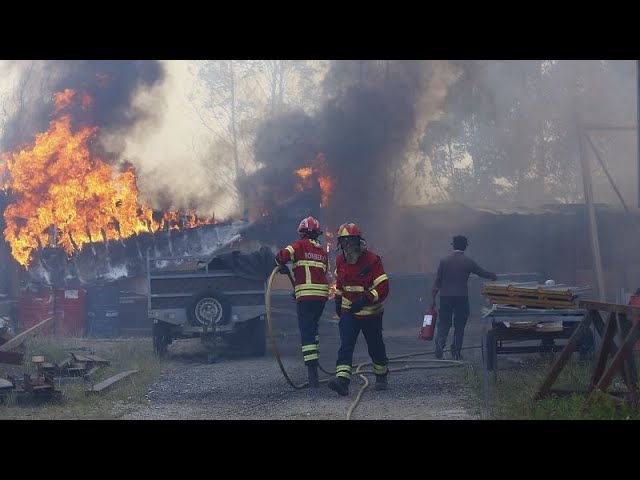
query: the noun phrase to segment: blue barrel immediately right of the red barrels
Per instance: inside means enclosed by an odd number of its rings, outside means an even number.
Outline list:
[[[119,291],[112,285],[87,289],[87,335],[117,337],[120,335],[118,312]]]

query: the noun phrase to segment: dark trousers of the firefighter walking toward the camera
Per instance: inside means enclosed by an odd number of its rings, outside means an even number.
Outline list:
[[[338,328],[340,330],[340,349],[336,361],[336,377],[351,380],[353,350],[361,330],[367,342],[369,356],[373,361],[373,372],[376,375],[387,374],[389,359],[382,339],[382,315],[373,318],[357,318],[350,312],[342,312]]]

